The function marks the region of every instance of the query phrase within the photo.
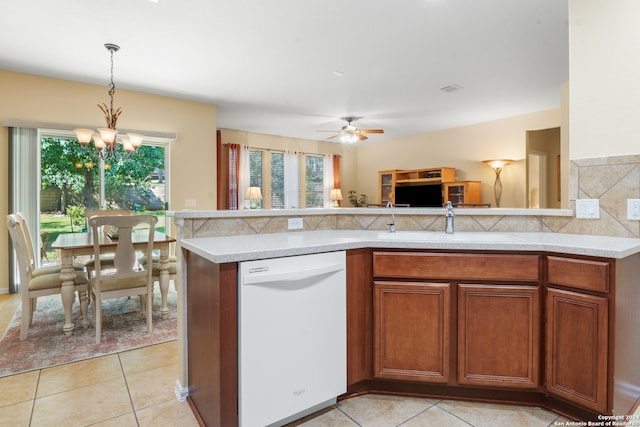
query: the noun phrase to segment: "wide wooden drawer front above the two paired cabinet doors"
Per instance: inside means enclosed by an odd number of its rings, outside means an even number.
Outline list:
[[[537,282],[539,256],[374,252],[373,275],[409,279],[517,280]]]

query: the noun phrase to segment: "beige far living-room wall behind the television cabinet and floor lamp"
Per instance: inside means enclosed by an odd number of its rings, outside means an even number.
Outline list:
[[[560,88],[558,88],[560,97]],[[495,207],[493,169],[482,163],[511,159],[500,177],[503,207],[526,207],[526,132],[562,125],[560,109],[494,120],[476,125],[415,135],[358,148],[357,188],[377,203],[378,171],[388,169],[456,168],[459,181],[482,181],[482,201]],[[343,190],[345,187],[343,186]]]

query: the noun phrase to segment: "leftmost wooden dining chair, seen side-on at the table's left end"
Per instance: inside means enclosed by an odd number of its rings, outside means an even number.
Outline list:
[[[60,279],[60,265],[48,265],[37,268],[35,249],[31,240],[31,233],[22,214],[7,216],[7,228],[13,242],[13,248],[18,260],[20,271],[20,297],[22,301],[22,320],[20,323],[20,340],[27,339],[29,326],[33,322],[33,312],[36,309],[37,298],[46,295],[56,295],[62,292]],[[76,268],[77,267],[77,268]],[[87,275],[84,266],[75,265],[74,290],[80,300],[80,312],[83,323],[87,320]]]

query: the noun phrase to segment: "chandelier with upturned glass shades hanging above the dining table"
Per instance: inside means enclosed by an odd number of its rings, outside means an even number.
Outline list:
[[[98,150],[98,155],[101,159],[119,159],[129,158],[131,154],[136,152],[144,136],[137,133],[127,133],[126,135],[118,134],[116,124],[120,114],[122,114],[122,108],[113,106],[113,95],[116,93],[116,85],[113,83],[113,54],[120,50],[120,46],[105,43],[105,48],[111,54],[111,81],[109,83],[109,98],[111,103],[109,105],[102,103],[98,104],[98,108],[104,113],[104,118],[107,122],[106,128],[98,128],[95,132],[93,129],[74,129],[78,142],[86,148],[93,139],[93,145]],[[122,156],[118,153],[118,144],[122,144],[125,155]]]

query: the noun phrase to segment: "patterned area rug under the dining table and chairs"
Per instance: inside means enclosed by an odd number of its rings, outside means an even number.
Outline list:
[[[72,311],[75,329],[73,335],[67,337],[62,332],[64,311],[60,295],[40,297],[27,339],[20,341],[22,310],[19,307],[0,341],[0,377],[175,340],[178,316],[173,283],[169,286],[167,303],[169,315],[162,319],[161,296],[156,285],[153,331],[149,333],[145,317],[140,316],[137,297],[103,301],[102,342],[96,345],[95,325],[91,322],[87,328],[81,326],[77,299]],[[91,320],[91,307],[89,318]]]

